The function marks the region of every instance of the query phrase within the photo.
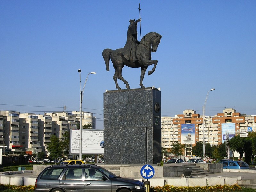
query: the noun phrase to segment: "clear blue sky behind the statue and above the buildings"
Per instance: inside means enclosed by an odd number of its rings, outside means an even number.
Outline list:
[[[66,111],[79,111],[81,69],[82,84],[89,72],[97,73],[88,77],[83,111],[93,112],[96,129],[103,129],[103,93],[116,88],[114,68],[110,64],[106,71],[102,51],[124,47],[139,3],[142,36],[163,35],[151,54],[156,71],[143,81],[161,87],[162,116],[185,109],[202,114],[212,88],[205,115],[225,108],[256,114],[256,1],[246,0],[2,0],[0,110],[44,114],[65,105]],[[130,88],[140,88],[140,68],[124,67],[123,77]]]

